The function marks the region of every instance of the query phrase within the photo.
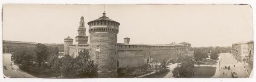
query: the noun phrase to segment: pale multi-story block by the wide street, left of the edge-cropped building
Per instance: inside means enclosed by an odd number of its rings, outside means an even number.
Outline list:
[[[244,58],[247,59],[247,56],[248,56],[247,43],[237,42],[232,44],[232,54],[239,62],[242,62]]]

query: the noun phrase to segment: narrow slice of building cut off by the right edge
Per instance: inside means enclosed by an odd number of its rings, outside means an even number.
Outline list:
[[[247,42],[248,45],[248,67],[253,68],[253,40]]]

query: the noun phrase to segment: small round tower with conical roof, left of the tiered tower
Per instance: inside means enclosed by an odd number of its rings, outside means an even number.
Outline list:
[[[64,38],[64,55],[69,54],[69,45],[73,45],[73,39],[68,36]]]

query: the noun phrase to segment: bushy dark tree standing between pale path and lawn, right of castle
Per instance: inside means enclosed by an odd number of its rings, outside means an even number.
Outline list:
[[[179,57],[178,59],[180,61],[180,64],[177,65],[177,67],[174,68],[172,71],[172,74],[175,78],[189,78],[194,76],[195,72],[195,62],[193,62],[192,58],[189,56]]]

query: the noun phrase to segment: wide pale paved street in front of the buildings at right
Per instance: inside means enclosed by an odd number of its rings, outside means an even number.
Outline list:
[[[220,63],[218,63],[215,75],[213,77],[231,78],[231,71],[236,72],[240,78],[249,77],[247,70],[244,71],[244,63],[234,59],[230,53],[221,53],[220,60],[218,62]],[[230,66],[230,70],[223,69],[225,66]]]

